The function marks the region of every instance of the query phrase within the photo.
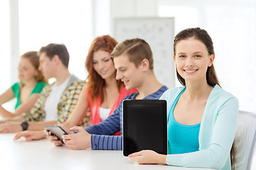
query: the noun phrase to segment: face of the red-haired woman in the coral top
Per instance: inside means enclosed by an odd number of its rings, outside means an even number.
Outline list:
[[[99,50],[93,53],[92,57],[93,68],[99,74],[102,79],[115,77],[116,69],[114,69],[114,63],[111,60],[110,52]]]

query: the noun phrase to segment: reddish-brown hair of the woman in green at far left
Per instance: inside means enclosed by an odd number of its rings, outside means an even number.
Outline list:
[[[39,67],[39,56],[38,56],[38,52],[36,51],[30,51],[30,52],[26,52],[25,54],[23,54],[21,56],[21,58],[26,58],[28,59],[31,64],[33,65],[33,67],[38,71],[38,75],[36,76],[36,81],[41,81],[41,82],[45,82],[46,84],[48,84],[48,80],[43,77],[42,72],[38,69]],[[20,87],[24,86],[24,84],[20,81]]]

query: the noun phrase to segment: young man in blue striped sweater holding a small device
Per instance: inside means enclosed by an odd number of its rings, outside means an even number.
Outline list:
[[[144,40],[125,40],[114,47],[111,56],[117,69],[116,78],[124,82],[126,89],[138,90],[124,99],[158,99],[166,91],[167,87],[154,75],[152,52]],[[120,130],[122,132],[122,103],[101,123],[85,128],[75,126],[70,130],[78,130],[78,133],[63,135],[64,143],[69,149],[122,149],[122,135],[113,136]],[[55,145],[63,145],[47,131],[46,135]]]

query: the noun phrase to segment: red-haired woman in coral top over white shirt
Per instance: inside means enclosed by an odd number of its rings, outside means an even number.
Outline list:
[[[137,91],[125,89],[123,82],[115,79],[117,70],[110,57],[115,45],[117,41],[110,35],[99,36],[93,40],[85,61],[88,72],[87,82],[82,88],[78,104],[62,124],[66,128],[78,125],[88,108],[90,108],[91,124],[100,123],[113,113],[125,96]],[[46,138],[46,135],[44,131],[26,130],[18,132],[14,140],[20,137],[26,137],[29,141]]]

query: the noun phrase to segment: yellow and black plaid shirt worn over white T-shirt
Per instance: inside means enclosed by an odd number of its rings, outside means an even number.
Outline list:
[[[60,97],[60,101],[57,106],[57,118],[58,123],[64,123],[68,119],[70,113],[72,113],[75,105],[78,103],[78,97],[82,91],[82,86],[85,83],[79,80],[77,77],[71,75],[68,85],[63,91],[63,95]],[[28,121],[43,121],[46,118],[46,111],[44,106],[46,100],[52,90],[53,84],[45,86],[41,91],[41,94],[34,104],[33,108],[28,113],[23,113],[22,116]],[[79,124],[80,126],[90,125],[90,112],[86,112],[85,116]]]

